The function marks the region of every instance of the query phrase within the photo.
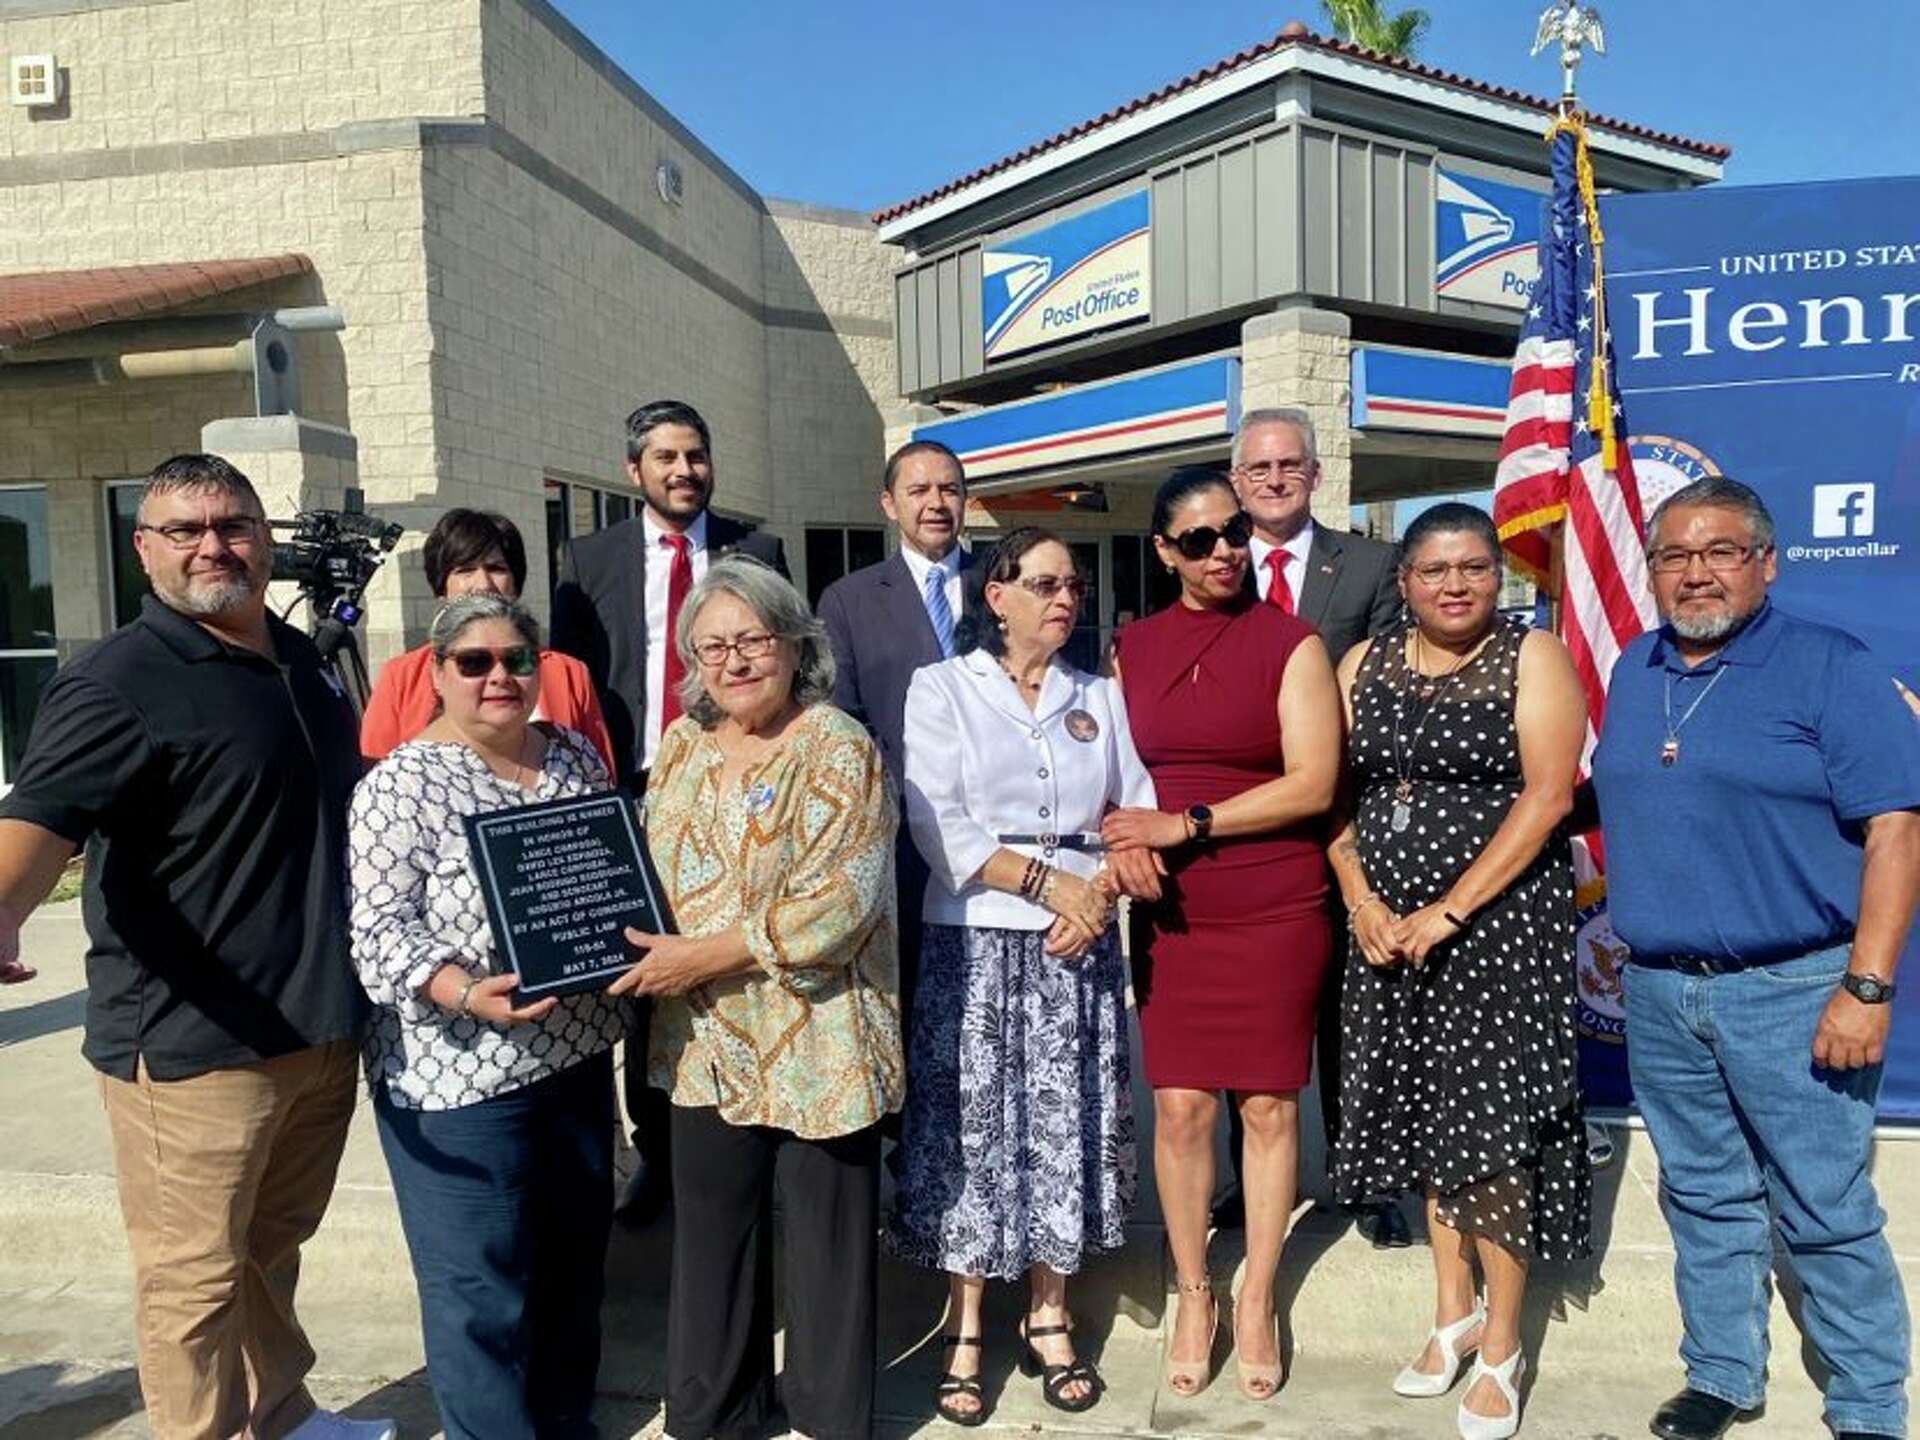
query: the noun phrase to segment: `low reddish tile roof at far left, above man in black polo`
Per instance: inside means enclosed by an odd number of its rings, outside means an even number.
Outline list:
[[[163,315],[196,300],[311,273],[305,255],[269,255],[0,275],[0,346]]]

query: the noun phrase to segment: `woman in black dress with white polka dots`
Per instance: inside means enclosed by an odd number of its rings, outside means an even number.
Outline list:
[[[1519,1428],[1526,1267],[1588,1250],[1561,828],[1586,705],[1565,647],[1496,611],[1484,511],[1423,513],[1400,586],[1413,622],[1340,666],[1356,814],[1332,845],[1352,916],[1334,1190],[1425,1196],[1434,1329],[1394,1390],[1442,1396],[1476,1350],[1457,1425],[1494,1440]]]

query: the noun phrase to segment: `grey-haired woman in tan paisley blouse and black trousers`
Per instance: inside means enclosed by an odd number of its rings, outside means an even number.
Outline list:
[[[874,1415],[879,1121],[902,1092],[895,803],[879,751],[826,705],[833,655],[793,586],[714,561],[680,609],[685,714],[660,735],[647,845],[678,935],[628,931],[674,1102],[666,1432],[758,1434],[774,1411],[768,1215],[785,1223],[799,1434]]]

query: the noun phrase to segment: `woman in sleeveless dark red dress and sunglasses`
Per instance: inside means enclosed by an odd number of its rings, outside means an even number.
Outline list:
[[[1219,472],[1154,497],[1154,549],[1181,597],[1127,626],[1114,666],[1162,810],[1116,810],[1114,851],[1164,856],[1135,996],[1154,1087],[1154,1179],[1179,1281],[1167,1386],[1212,1379],[1219,1306],[1208,1200],[1219,1092],[1246,1125],[1246,1273],[1233,1329],[1240,1388],[1281,1388],[1273,1275],[1294,1206],[1300,1087],[1329,960],[1323,812],[1340,772],[1340,693],[1313,628],[1246,586],[1252,520]]]

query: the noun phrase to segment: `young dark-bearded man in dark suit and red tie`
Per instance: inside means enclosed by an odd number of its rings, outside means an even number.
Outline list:
[[[674,645],[680,605],[710,555],[739,551],[787,574],[776,536],[708,515],[712,438],[680,399],[651,399],[626,417],[626,476],[639,515],[580,536],[561,553],[553,589],[553,649],[588,666],[612,739],[620,785],[647,793],[660,732],[680,718],[685,662]],[[647,1016],[626,1043],[626,1112],[637,1165],[614,1213],[641,1225],[666,1206],[666,1096],[647,1087]]]

